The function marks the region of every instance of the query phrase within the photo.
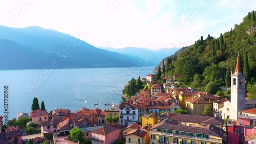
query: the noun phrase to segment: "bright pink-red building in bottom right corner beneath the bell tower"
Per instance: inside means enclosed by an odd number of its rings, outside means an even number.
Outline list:
[[[256,141],[256,109],[241,111],[237,121],[228,121],[229,143],[251,143]],[[252,136],[253,135],[253,136]]]

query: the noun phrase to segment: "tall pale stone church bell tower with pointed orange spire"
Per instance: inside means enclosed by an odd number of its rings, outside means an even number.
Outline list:
[[[238,55],[234,74],[231,74],[231,108],[230,119],[237,119],[241,110],[245,109],[245,75],[242,74],[240,58]]]

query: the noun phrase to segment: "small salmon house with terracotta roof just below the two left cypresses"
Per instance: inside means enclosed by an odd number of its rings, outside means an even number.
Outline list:
[[[49,121],[49,113],[46,110],[33,110],[30,112],[32,123],[40,125],[41,122]]]

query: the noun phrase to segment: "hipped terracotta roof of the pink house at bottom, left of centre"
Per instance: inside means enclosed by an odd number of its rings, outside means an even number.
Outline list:
[[[101,135],[108,135],[109,133],[117,130],[117,129],[121,129],[122,128],[122,125],[118,125],[118,124],[115,124],[115,125],[112,125],[112,124],[109,124],[109,125],[106,125],[102,128],[99,128],[97,130],[94,130],[92,131],[92,133],[97,133],[97,134],[101,134]]]

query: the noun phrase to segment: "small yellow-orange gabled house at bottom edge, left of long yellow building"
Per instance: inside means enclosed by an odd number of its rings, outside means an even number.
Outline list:
[[[125,143],[140,143],[140,144],[148,144],[150,142],[150,136],[146,131],[141,129],[135,129],[127,134],[125,134]]]

